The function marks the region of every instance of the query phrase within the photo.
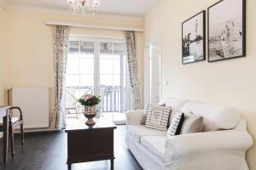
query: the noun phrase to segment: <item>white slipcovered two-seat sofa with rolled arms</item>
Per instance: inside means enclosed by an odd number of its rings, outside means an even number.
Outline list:
[[[166,132],[142,124],[143,110],[127,111],[126,144],[143,169],[248,170],[245,154],[253,139],[239,111],[172,98],[160,103],[171,106],[173,112],[203,116],[205,132],[167,138]]]

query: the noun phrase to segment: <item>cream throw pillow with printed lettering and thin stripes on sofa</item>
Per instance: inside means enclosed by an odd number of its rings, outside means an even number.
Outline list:
[[[166,131],[171,111],[171,107],[149,105],[145,127]]]

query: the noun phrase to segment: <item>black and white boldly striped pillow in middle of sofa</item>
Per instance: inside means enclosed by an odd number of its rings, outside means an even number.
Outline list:
[[[179,135],[181,128],[183,127],[185,116],[183,112],[178,111],[175,116],[172,117],[172,122],[167,131],[167,136]]]

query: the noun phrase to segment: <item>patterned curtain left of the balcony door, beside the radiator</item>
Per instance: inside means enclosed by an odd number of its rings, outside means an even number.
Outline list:
[[[52,115],[51,127],[61,129],[65,126],[65,107],[64,107],[64,82],[67,67],[68,54],[68,26],[53,27],[54,45],[54,71],[55,71],[55,110]]]

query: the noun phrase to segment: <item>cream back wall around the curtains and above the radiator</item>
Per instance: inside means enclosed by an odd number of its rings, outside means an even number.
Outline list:
[[[79,16],[72,14],[35,13],[7,10],[7,65],[5,87],[49,87],[50,111],[54,105],[54,71],[52,54],[52,26],[45,20],[143,28],[143,20]],[[122,31],[71,28],[71,34],[123,37]],[[139,79],[143,82],[143,33],[138,33]],[[143,84],[142,84],[143,87]],[[6,89],[5,89],[6,90]]]

